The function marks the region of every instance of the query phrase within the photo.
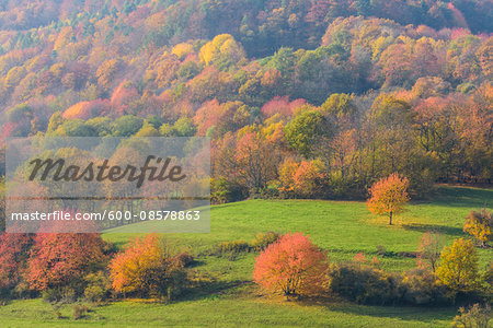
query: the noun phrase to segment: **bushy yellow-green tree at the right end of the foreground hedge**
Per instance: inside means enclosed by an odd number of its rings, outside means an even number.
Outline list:
[[[471,241],[455,239],[454,245],[444,247],[437,278],[456,292],[475,290],[479,282],[478,254]]]

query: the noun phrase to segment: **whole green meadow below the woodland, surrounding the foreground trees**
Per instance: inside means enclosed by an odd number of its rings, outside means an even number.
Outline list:
[[[440,187],[431,201],[414,202],[388,226],[386,219],[372,218],[363,202],[249,200],[211,209],[210,234],[169,234],[167,239],[177,248],[198,256],[194,270],[214,278],[207,288],[190,291],[170,304],[142,303],[136,300],[112,302],[94,307],[82,319],[72,319],[72,305],[55,317],[51,305],[41,300],[13,301],[0,307],[2,327],[30,326],[308,326],[308,327],[448,327],[456,308],[359,306],[341,300],[323,304],[287,302],[265,295],[252,283],[255,254],[231,260],[200,256],[216,243],[245,239],[256,232],[303,232],[328,250],[332,261],[351,259],[364,251],[377,255],[377,246],[386,248],[379,256],[385,269],[402,271],[415,259],[400,255],[414,251],[423,232],[436,230],[449,244],[462,233],[463,219],[470,210],[493,203],[493,190]],[[118,246],[135,236],[123,226],[104,238]],[[480,249],[480,268],[493,258],[492,249]]]

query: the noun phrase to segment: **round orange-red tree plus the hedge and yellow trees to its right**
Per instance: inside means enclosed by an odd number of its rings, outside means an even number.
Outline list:
[[[480,273],[471,241],[455,239],[438,249],[439,237],[425,233],[417,251],[417,268],[400,274],[379,269],[363,254],[352,263],[330,265],[326,254],[307,236],[282,236],[255,260],[253,278],[264,289],[286,296],[323,296],[332,291],[366,304],[439,304],[457,295],[484,293],[492,288],[492,267]],[[438,259],[438,260],[437,260]]]

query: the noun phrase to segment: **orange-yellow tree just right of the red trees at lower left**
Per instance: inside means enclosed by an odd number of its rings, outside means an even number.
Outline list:
[[[183,261],[167,253],[156,234],[136,237],[110,262],[112,286],[118,293],[171,297],[184,279]]]

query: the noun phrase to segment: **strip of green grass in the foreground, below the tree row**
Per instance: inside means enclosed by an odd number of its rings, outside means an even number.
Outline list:
[[[72,319],[70,305],[60,308],[61,319],[55,319],[50,306],[39,300],[16,301],[1,309],[2,327],[449,327],[455,315],[449,308],[358,306],[341,302],[300,304],[250,295],[250,289],[167,305],[117,302],[92,307],[79,320]]]

